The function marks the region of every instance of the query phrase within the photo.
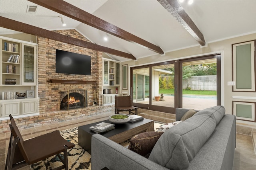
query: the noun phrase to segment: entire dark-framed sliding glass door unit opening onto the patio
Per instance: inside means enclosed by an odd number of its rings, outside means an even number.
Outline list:
[[[220,55],[131,68],[131,94],[137,107],[175,113],[176,107],[220,105]]]

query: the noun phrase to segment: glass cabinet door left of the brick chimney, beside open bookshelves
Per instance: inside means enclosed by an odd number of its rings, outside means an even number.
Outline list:
[[[22,84],[36,85],[36,47],[23,44],[22,48]]]

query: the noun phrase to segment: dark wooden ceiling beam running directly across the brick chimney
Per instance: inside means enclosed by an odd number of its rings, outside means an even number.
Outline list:
[[[4,17],[1,17],[1,16],[0,16],[0,27],[4,27],[4,28],[7,28],[7,29],[12,29],[12,30],[15,30],[15,31],[23,32],[23,33],[28,33],[28,34],[31,34],[31,35],[36,35],[36,36],[39,36],[39,37],[53,39],[55,41],[60,41],[60,42],[63,42],[63,43],[77,45],[79,47],[84,47],[84,48],[87,48],[87,49],[101,51],[101,52],[104,52],[104,53],[109,53],[109,54],[117,55],[117,56],[120,56],[120,57],[125,57],[127,59],[136,60],[136,57],[134,57],[132,54],[129,54],[129,53],[124,53],[122,51],[118,51],[118,50],[115,50],[115,49],[110,49],[108,47],[103,47],[101,45],[97,45],[97,44],[90,43],[90,42],[87,42],[87,41],[83,41],[83,40],[80,40],[80,39],[76,39],[76,38],[73,38],[73,37],[68,37],[68,36],[62,35],[60,33],[56,33],[56,32],[53,32],[53,31],[48,31],[46,29],[42,29],[42,28],[39,28],[39,27],[28,25],[26,23],[11,20],[11,19],[4,18]]]

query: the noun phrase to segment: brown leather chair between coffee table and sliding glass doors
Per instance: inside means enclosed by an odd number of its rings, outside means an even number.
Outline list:
[[[129,115],[138,115],[137,109],[138,107],[132,106],[132,96],[115,96],[115,114],[119,114],[119,111],[129,111]]]

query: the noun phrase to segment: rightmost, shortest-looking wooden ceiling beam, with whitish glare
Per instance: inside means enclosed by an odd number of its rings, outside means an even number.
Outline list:
[[[196,39],[196,41],[198,41],[200,45],[204,46],[206,44],[204,35],[177,0],[157,1]]]

